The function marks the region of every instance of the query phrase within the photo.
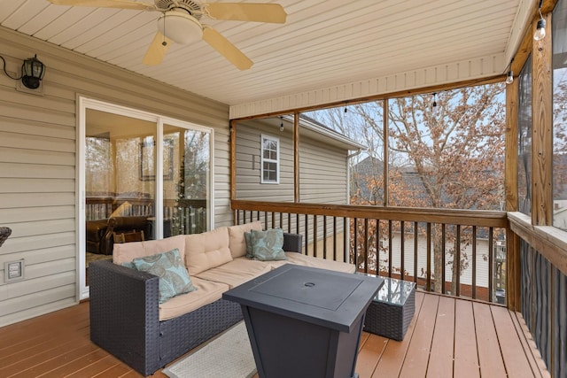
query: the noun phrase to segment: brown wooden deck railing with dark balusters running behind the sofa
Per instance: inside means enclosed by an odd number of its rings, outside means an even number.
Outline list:
[[[233,200],[237,224],[304,235],[304,253],[505,304],[506,212]],[[443,252],[445,251],[445,252]]]

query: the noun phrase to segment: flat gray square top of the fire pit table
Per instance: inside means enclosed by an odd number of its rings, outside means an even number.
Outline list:
[[[225,292],[225,299],[342,332],[368,308],[382,278],[286,264]]]

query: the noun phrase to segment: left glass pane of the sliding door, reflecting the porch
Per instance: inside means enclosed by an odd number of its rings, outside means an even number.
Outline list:
[[[86,110],[87,268],[92,260],[112,258],[117,234],[155,238],[155,140],[155,122]]]

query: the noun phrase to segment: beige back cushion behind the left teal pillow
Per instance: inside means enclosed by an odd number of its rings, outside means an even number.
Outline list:
[[[114,243],[113,262],[114,264],[122,264],[130,262],[134,258],[145,258],[146,256],[171,251],[175,248],[179,250],[179,255],[183,263],[185,263],[185,235],[176,235],[145,242]]]

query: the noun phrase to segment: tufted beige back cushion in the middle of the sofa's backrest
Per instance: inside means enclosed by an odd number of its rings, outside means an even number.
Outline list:
[[[232,261],[229,228],[185,235],[185,265],[191,276]]]

